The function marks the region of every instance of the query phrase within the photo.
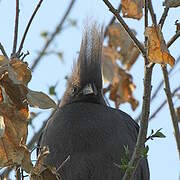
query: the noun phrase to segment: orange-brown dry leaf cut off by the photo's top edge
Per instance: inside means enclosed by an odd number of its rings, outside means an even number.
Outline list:
[[[141,19],[143,16],[142,0],[121,0],[123,17]]]

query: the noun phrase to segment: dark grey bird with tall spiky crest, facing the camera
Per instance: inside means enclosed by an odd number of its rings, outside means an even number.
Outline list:
[[[49,149],[44,164],[56,167],[62,180],[121,180],[126,150],[131,158],[136,146],[138,124],[104,100],[102,46],[103,28],[96,23],[85,27],[60,105],[39,140],[40,150]],[[132,180],[149,179],[144,157]]]

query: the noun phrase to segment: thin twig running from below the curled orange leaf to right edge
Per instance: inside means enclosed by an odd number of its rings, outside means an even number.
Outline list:
[[[163,71],[164,83],[165,83],[164,90],[165,90],[166,96],[167,96],[167,101],[168,101],[169,110],[170,110],[170,114],[171,114],[171,120],[172,120],[173,127],[174,127],[174,135],[175,135],[177,149],[178,149],[179,158],[180,158],[180,131],[179,131],[176,112],[175,112],[173,101],[172,101],[171,88],[170,88],[169,77],[168,77],[168,72],[167,72],[166,66],[162,66],[162,71]]]

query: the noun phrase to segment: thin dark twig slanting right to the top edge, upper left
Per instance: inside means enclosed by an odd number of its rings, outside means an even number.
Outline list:
[[[29,30],[29,28],[30,28],[30,26],[31,26],[31,23],[32,23],[35,15],[36,15],[36,13],[37,13],[37,11],[39,10],[42,2],[43,2],[43,0],[40,0],[40,1],[39,1],[39,3],[37,4],[37,6],[36,6],[36,8],[35,8],[35,10],[34,10],[34,12],[33,12],[33,14],[32,14],[32,16],[31,16],[31,18],[30,18],[30,20],[29,20],[29,22],[28,22],[28,24],[27,24],[27,26],[26,26],[26,29],[25,29],[24,34],[23,34],[23,38],[22,38],[22,40],[21,40],[21,43],[20,43],[20,46],[19,46],[19,49],[18,49],[18,52],[17,52],[17,57],[21,54],[21,50],[22,50],[22,48],[23,48],[23,44],[24,44],[24,41],[25,41],[25,39],[26,39],[26,35],[27,35],[27,33],[28,33],[28,30]]]

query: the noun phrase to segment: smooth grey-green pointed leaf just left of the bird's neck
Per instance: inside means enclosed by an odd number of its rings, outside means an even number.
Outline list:
[[[41,109],[56,108],[56,103],[43,92],[32,91],[28,89],[27,101],[30,106]]]

